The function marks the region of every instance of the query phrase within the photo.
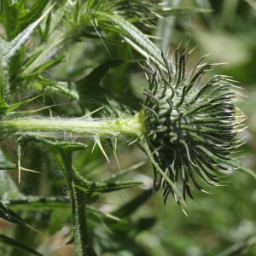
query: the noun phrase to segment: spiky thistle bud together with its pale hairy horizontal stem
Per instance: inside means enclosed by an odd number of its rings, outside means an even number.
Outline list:
[[[218,172],[227,172],[230,152],[240,141],[244,115],[236,108],[235,81],[215,75],[202,84],[205,73],[215,64],[200,61],[186,74],[189,54],[168,61],[162,55],[165,70],[148,60],[148,89],[143,108],[134,116],[116,119],[88,118],[7,118],[0,126],[6,136],[23,137],[90,137],[102,148],[102,138],[127,137],[143,148],[154,166],[154,188],[164,189],[164,201],[170,192],[176,201],[193,198],[189,181],[203,190],[197,176],[218,185]],[[201,66],[201,67],[199,67]],[[199,67],[199,68],[198,68]],[[196,69],[198,71],[196,72]],[[103,154],[103,148],[102,148]],[[105,154],[108,158],[107,154]],[[179,176],[183,199],[177,190]]]

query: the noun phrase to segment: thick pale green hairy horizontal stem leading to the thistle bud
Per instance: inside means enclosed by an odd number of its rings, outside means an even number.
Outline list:
[[[118,119],[84,118],[15,118],[0,120],[0,129],[4,134],[49,137],[67,137],[68,134],[79,137],[121,137],[139,136],[143,132],[143,122],[139,114]]]

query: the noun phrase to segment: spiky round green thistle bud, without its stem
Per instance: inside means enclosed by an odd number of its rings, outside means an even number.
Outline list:
[[[179,202],[166,175],[177,188],[181,181],[184,200],[186,195],[193,198],[190,183],[203,191],[200,178],[218,185],[218,172],[228,170],[230,151],[238,147],[236,135],[244,129],[244,116],[234,105],[234,80],[215,75],[204,81],[217,64],[201,64],[204,56],[187,73],[185,49],[181,55],[176,50],[174,62],[162,57],[166,71],[148,61],[143,121],[150,152],[165,173],[154,166],[154,188],[163,188],[165,202],[170,193]]]

